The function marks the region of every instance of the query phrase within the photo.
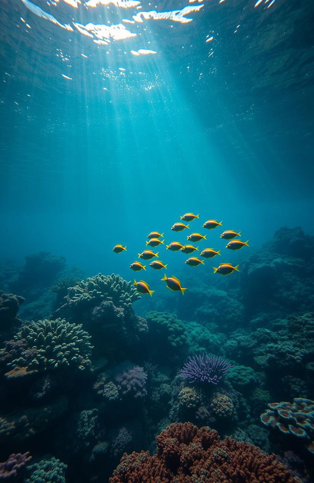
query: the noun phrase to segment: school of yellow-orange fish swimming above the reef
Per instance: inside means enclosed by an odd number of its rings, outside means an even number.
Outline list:
[[[191,222],[195,219],[198,219],[199,215],[194,215],[193,213],[185,213],[183,216],[180,216],[181,221],[176,222],[172,225],[171,230],[175,232],[182,232],[185,229],[190,229],[189,224],[184,224],[184,222]],[[218,222],[216,220],[207,220],[205,223],[203,223],[203,228],[206,228],[207,230],[213,230],[214,228],[217,228],[218,226],[222,226],[222,221]],[[223,233],[221,233],[220,238],[225,239],[228,241],[226,248],[230,250],[239,250],[243,246],[249,246],[248,240],[246,242],[242,242],[239,239],[235,239],[236,237],[241,237],[241,232],[236,232],[234,230],[225,230]],[[158,245],[164,244],[164,240],[161,240],[164,238],[164,233],[159,233],[157,231],[153,231],[147,235],[148,241],[146,241],[146,245],[150,247],[156,247]],[[201,233],[191,233],[186,237],[186,240],[188,242],[196,243],[196,242],[201,242],[203,240],[207,240],[206,235],[202,235]],[[148,247],[147,247],[148,248]],[[199,251],[198,246],[190,245],[190,244],[181,244],[180,242],[170,242],[168,245],[166,245],[166,249],[170,251],[181,251],[185,254],[190,254],[193,253],[194,251]],[[114,253],[122,253],[123,251],[127,251],[127,246],[123,246],[122,244],[117,244],[113,247],[112,251]],[[220,255],[220,250],[214,250],[213,248],[204,248],[201,253],[200,257],[202,259],[198,258],[197,256],[190,256],[185,260],[185,263],[189,265],[190,267],[198,267],[199,265],[204,265],[205,260],[209,258],[213,258],[216,255]],[[142,253],[138,253],[138,258],[142,260],[151,260],[152,258],[156,257],[159,258],[159,252],[154,253],[150,249],[143,250]],[[204,260],[205,259],[205,260]],[[154,268],[154,270],[160,270],[162,268],[167,269],[167,264],[163,264],[161,260],[153,260],[149,266],[151,268]],[[143,265],[140,261],[135,260],[133,263],[131,263],[130,268],[134,271],[140,271],[140,270],[146,270],[146,265]],[[239,266],[236,265],[235,267],[227,262],[221,263],[218,267],[213,267],[213,272],[214,273],[220,273],[221,275],[229,275],[230,273],[233,273],[234,271],[239,271]],[[186,288],[181,286],[180,280],[175,277],[174,275],[171,275],[171,277],[168,277],[166,274],[161,278],[162,281],[166,282],[166,287],[173,292],[181,292],[182,295],[184,294]],[[154,290],[150,290],[149,285],[147,282],[144,280],[139,280],[138,282],[134,280],[133,285],[136,287],[136,290],[140,294],[149,294],[153,295],[155,292]]]

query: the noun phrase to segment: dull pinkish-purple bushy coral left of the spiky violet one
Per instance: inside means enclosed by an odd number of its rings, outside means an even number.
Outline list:
[[[143,398],[147,394],[147,374],[140,366],[135,366],[131,362],[123,362],[115,369],[114,379],[119,393],[122,395]]]

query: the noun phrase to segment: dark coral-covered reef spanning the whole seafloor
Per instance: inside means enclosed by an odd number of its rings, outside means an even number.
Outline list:
[[[51,253],[3,264],[0,289],[0,479],[314,481],[314,237],[301,228],[141,316],[131,282],[86,279]],[[204,353],[220,359],[203,377]]]

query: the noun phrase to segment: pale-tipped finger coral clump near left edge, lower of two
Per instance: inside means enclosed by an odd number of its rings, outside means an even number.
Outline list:
[[[90,335],[79,324],[64,319],[27,322],[14,336],[15,341],[23,341],[26,348],[20,356],[10,362],[14,370],[27,367],[28,371],[47,371],[62,367],[76,367],[79,370],[90,368],[89,355],[92,346]]]

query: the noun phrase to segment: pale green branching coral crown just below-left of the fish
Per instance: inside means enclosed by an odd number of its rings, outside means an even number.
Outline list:
[[[103,301],[112,301],[116,307],[131,308],[138,294],[132,282],[127,282],[120,275],[102,275],[87,278],[71,287],[66,295],[70,306],[77,307],[81,303],[87,305],[100,305]],[[97,302],[95,304],[95,302]]]

